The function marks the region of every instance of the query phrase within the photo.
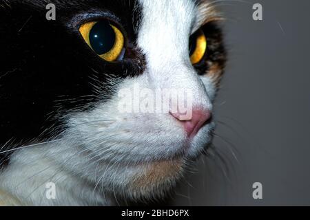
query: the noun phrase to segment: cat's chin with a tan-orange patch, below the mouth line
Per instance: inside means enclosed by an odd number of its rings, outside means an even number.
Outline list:
[[[123,172],[130,170],[132,176],[128,179],[124,176],[123,181],[119,181],[117,186],[114,182],[113,193],[128,202],[165,199],[185,174],[185,164],[185,159],[179,157],[171,160],[124,166]]]

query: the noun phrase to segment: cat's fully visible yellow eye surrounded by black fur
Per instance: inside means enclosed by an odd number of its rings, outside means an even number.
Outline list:
[[[109,21],[91,21],[79,28],[87,45],[105,61],[121,60],[124,53],[124,36]]]

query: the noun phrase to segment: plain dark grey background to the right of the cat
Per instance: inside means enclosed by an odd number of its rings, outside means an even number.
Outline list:
[[[254,3],[263,21],[252,19]],[[220,137],[173,204],[310,205],[310,1],[216,4],[227,17],[229,49],[215,104]],[[256,181],[261,200],[252,197]]]

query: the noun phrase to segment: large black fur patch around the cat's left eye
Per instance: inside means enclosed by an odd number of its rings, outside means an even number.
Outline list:
[[[56,5],[56,21],[45,19],[48,3]],[[0,149],[9,140],[21,146],[59,135],[63,113],[99,101],[93,85],[101,99],[109,98],[115,89],[110,74],[117,73],[114,80],[141,74],[145,61],[135,45],[140,11],[137,1],[0,1]],[[123,30],[124,61],[103,61],[79,34],[87,19],[103,19],[99,13]],[[0,153],[0,166],[9,155]]]

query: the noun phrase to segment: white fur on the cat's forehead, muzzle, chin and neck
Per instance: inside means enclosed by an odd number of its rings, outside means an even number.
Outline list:
[[[118,89],[134,84],[156,88],[189,88],[194,105],[212,109],[215,88],[207,77],[196,74],[189,61],[189,35],[198,10],[189,0],[141,0],[143,20],[138,46],[147,69],[125,80]],[[117,74],[117,73],[116,73]],[[100,88],[97,88],[100,89]],[[0,188],[25,205],[115,205],[114,196],[152,199],[169,191],[183,175],[136,189],[132,186],[154,162],[197,157],[210,141],[203,127],[189,146],[185,131],[169,114],[119,113],[118,97],[92,111],[66,116],[69,129],[62,140],[24,148],[13,154],[0,175]],[[56,184],[56,199],[46,199],[45,184]]]

